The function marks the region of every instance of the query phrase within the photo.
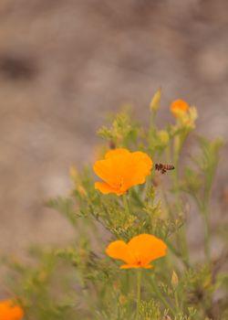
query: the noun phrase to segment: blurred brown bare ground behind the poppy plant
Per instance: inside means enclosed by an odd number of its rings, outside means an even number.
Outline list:
[[[226,0],[0,2],[1,253],[72,239],[43,202],[68,192],[69,165],[93,160],[95,132],[122,103],[147,123],[161,86],[160,123],[182,98],[198,107],[198,133],[226,139],[227,12]],[[228,201],[227,155],[215,200],[226,189]]]

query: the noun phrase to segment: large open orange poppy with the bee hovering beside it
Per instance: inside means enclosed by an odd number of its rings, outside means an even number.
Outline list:
[[[130,187],[143,184],[150,175],[152,160],[140,151],[110,150],[104,160],[93,165],[96,174],[104,182],[96,182],[95,188],[103,194],[123,195]]]

